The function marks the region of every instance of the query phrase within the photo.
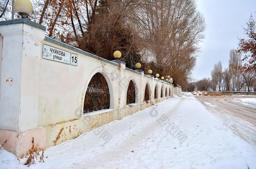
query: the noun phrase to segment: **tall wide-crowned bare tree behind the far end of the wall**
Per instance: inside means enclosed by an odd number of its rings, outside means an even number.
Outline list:
[[[158,73],[186,82],[195,66],[205,23],[194,0],[143,0],[132,22],[144,38],[144,62],[154,61]]]

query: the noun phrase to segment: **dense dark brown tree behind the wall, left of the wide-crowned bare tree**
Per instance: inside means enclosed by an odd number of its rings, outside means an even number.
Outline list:
[[[91,18],[80,39],[81,48],[108,60],[114,60],[112,53],[120,50],[120,59],[128,68],[135,68],[135,63],[140,61],[141,38],[127,21],[133,6],[133,0],[100,1],[95,19]]]

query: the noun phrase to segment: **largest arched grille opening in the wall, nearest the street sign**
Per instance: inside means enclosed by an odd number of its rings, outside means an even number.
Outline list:
[[[88,84],[84,98],[84,113],[110,108],[110,92],[107,81],[96,73]]]

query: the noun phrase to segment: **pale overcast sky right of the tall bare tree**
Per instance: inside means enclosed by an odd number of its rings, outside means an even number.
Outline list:
[[[238,47],[238,38],[244,37],[243,27],[251,13],[256,19],[256,0],[198,0],[197,3],[207,27],[192,72],[195,80],[211,77],[212,68],[218,61],[227,68],[229,51]]]

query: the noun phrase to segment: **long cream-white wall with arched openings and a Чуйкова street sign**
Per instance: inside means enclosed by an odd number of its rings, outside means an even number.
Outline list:
[[[55,56],[50,58],[49,52]],[[86,88],[95,73],[107,81],[110,108],[84,114]],[[32,138],[42,148],[60,144],[170,98],[173,91],[171,83],[126,68],[121,61],[53,40],[45,36],[44,26],[26,19],[0,22],[0,77],[0,142],[7,139],[5,149],[19,157],[31,148]],[[136,102],[128,106],[130,81],[136,86]],[[162,98],[161,88],[167,90]]]

